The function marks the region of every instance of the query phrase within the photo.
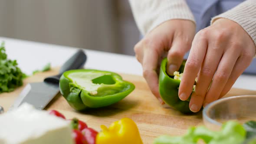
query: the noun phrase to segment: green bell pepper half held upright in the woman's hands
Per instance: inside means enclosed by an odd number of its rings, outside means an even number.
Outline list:
[[[180,73],[184,71],[185,63],[186,60],[184,60],[181,64],[179,69]],[[187,99],[187,101],[182,101],[178,96],[181,80],[174,79],[174,76],[169,76],[166,72],[166,65],[167,58],[162,60],[159,73],[159,93],[161,98],[166,104],[178,111],[181,111],[182,113],[192,113],[189,108],[190,97]]]

